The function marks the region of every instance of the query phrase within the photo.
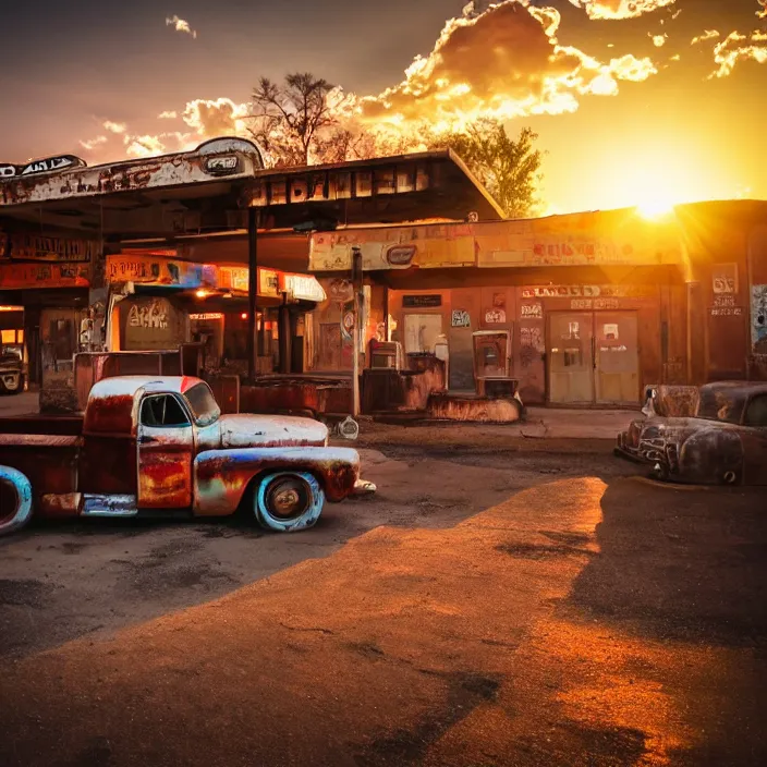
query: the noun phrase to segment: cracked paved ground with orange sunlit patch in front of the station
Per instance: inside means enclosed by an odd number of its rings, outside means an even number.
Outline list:
[[[767,508],[605,441],[367,424],[313,531],[0,541],[0,765],[767,763]]]

